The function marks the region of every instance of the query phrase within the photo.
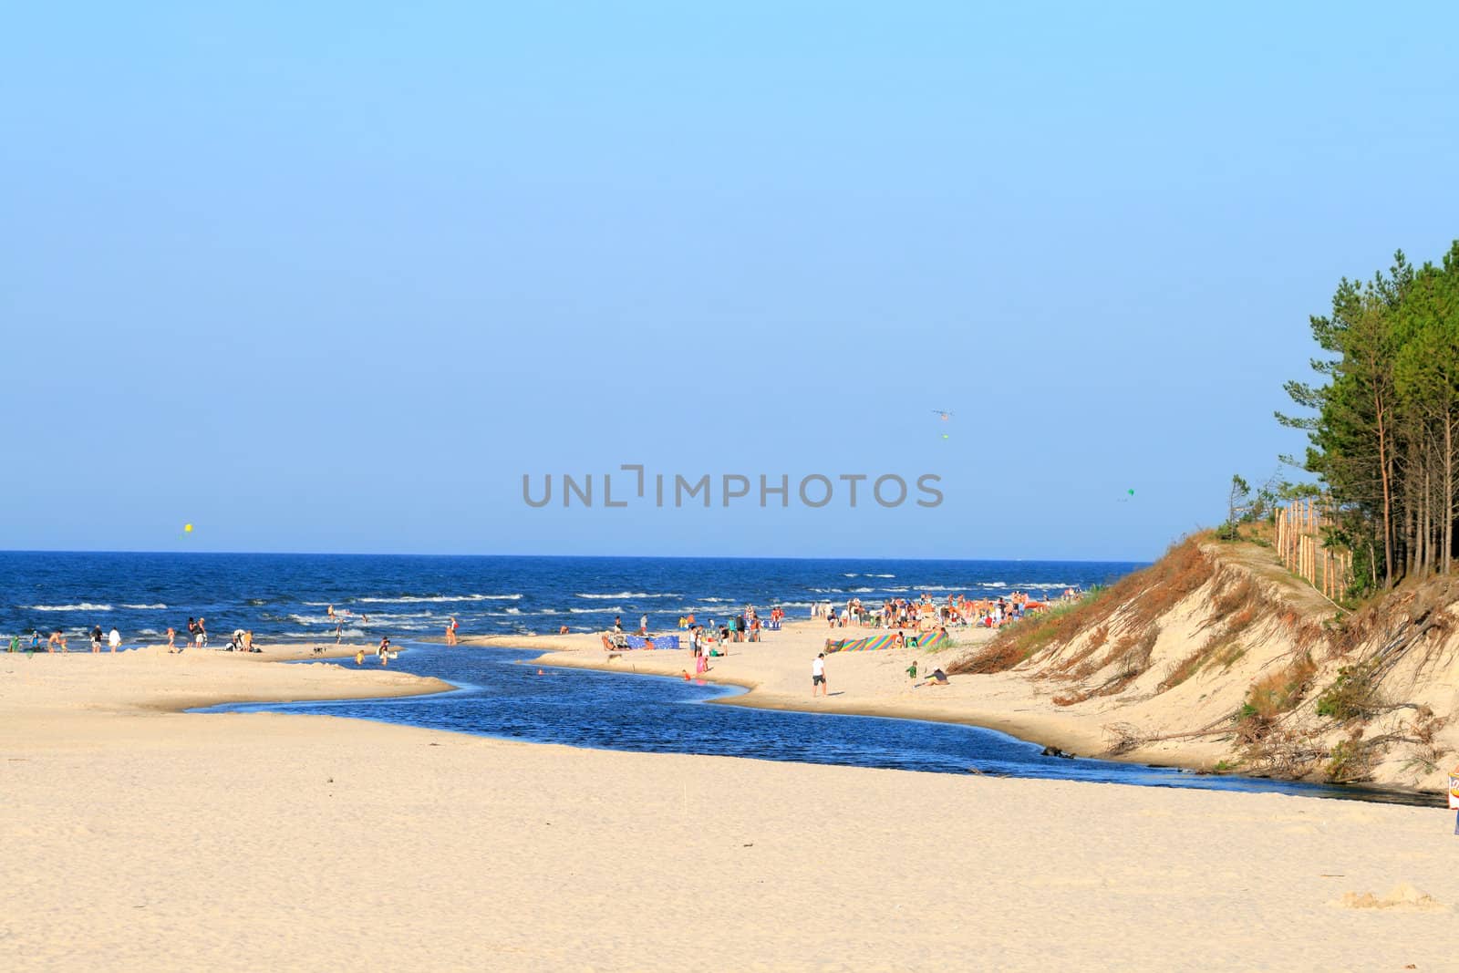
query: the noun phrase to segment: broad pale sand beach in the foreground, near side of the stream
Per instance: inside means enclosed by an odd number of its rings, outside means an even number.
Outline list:
[[[832,691],[852,667],[832,656]],[[0,967],[1452,966],[1439,810],[172,712],[438,687],[374,662],[0,655]]]

